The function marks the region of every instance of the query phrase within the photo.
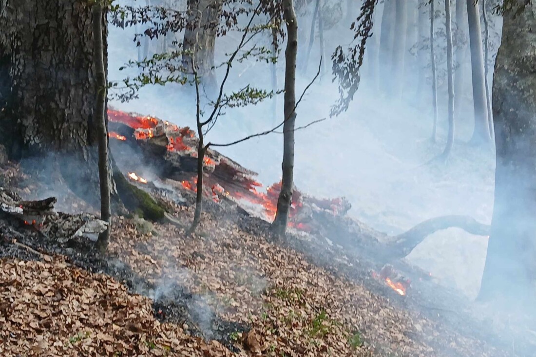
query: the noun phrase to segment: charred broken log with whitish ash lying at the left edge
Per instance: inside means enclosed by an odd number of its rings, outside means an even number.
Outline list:
[[[47,237],[65,243],[74,237],[96,240],[108,224],[91,214],[67,214],[54,211],[56,198],[24,201],[14,192],[0,187],[0,213],[31,226]]]

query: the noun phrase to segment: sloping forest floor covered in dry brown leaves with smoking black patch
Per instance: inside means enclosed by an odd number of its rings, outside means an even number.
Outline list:
[[[17,166],[2,174],[26,197],[44,190]],[[70,195],[60,203],[89,210]],[[181,221],[192,218],[191,204],[168,204]],[[190,237],[114,217],[104,256],[89,241],[63,246],[26,229],[19,242],[36,253],[0,230],[0,354],[515,355],[497,347],[509,341],[444,323],[443,311],[405,307],[340,247],[292,234],[278,243],[266,230],[211,202]]]

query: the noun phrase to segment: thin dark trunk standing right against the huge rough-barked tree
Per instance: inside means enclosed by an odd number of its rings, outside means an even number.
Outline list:
[[[106,251],[111,228],[110,208],[110,169],[108,166],[108,131],[106,129],[106,69],[102,44],[102,5],[96,2],[93,5],[93,41],[96,76],[96,101],[94,121],[99,143],[99,183],[101,195],[101,220],[108,222],[108,228],[99,234],[97,247]]]

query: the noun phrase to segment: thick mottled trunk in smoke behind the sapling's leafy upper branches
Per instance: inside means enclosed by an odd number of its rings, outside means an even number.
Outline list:
[[[182,65],[189,71],[191,56],[195,56],[197,72],[209,94],[217,88],[214,46],[221,10],[222,0],[188,0],[189,18],[184,32]]]

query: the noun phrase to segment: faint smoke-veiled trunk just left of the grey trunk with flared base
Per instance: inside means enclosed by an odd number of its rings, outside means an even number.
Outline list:
[[[465,116],[463,107],[463,98],[465,93],[465,78],[467,77],[466,50],[467,50],[467,0],[456,0],[456,38],[457,48],[455,54],[454,73],[454,113],[458,118]]]

